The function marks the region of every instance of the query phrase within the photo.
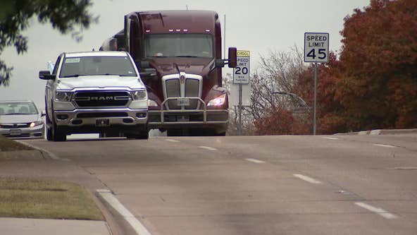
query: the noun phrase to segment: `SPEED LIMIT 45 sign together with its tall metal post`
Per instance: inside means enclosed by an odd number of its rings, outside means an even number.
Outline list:
[[[317,128],[317,63],[329,61],[329,34],[328,32],[304,33],[304,62],[314,63],[314,115],[313,135]]]

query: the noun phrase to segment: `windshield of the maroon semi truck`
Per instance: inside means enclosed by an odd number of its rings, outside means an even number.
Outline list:
[[[213,37],[204,34],[155,34],[145,36],[147,57],[213,58]]]

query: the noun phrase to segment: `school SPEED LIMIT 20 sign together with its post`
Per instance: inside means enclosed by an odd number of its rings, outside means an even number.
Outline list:
[[[242,135],[242,84],[249,84],[249,51],[237,51],[237,66],[233,68],[233,83],[239,84],[239,135]]]

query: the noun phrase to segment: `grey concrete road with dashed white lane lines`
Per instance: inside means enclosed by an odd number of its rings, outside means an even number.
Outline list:
[[[143,234],[417,234],[416,134],[25,142],[99,179]]]

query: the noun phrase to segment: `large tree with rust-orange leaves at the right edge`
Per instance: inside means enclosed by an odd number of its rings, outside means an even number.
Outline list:
[[[371,0],[341,34],[335,100],[347,128],[416,128],[417,1]]]

